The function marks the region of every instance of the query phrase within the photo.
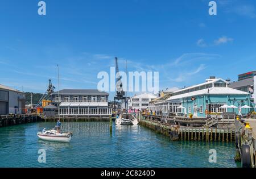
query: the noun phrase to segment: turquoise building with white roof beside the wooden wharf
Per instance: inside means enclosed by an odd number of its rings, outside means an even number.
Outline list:
[[[215,77],[210,77],[202,84],[174,91],[164,103],[168,103],[170,113],[193,114],[200,117],[223,112],[238,113],[238,109],[221,109],[223,105],[251,105],[249,93],[229,88],[227,81]],[[183,109],[179,109],[179,106],[183,106]],[[242,109],[243,114],[248,111]]]

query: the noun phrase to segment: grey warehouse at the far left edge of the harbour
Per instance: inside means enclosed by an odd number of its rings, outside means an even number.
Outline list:
[[[0,115],[24,114],[25,93],[0,84]]]

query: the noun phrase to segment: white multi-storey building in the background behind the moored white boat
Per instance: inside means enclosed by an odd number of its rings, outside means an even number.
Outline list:
[[[149,102],[157,97],[153,94],[143,93],[140,95],[134,95],[134,97],[130,97],[128,101],[128,109],[132,110],[144,110],[149,106]]]

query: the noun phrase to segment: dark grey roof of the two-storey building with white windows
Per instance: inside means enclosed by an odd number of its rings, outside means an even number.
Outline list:
[[[58,91],[52,94],[59,94]],[[97,89],[63,89],[60,90],[60,94],[104,94],[109,95],[105,91],[99,91]]]

